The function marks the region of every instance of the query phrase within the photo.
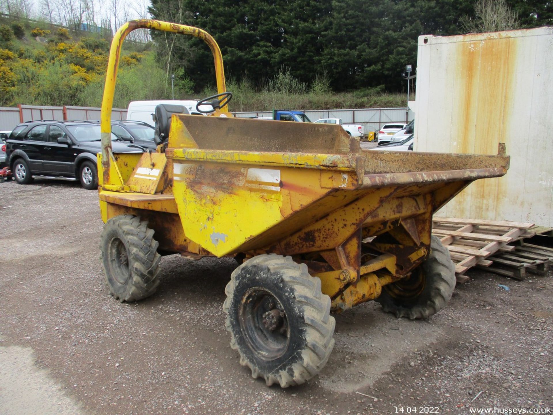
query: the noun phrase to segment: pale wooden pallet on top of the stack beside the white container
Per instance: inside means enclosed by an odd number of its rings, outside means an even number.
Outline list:
[[[438,236],[450,251],[457,282],[465,282],[468,277],[464,274],[468,269],[491,266],[491,257],[496,252],[516,251],[517,248],[509,244],[533,236],[528,231],[532,226],[534,224],[510,221],[435,217],[432,234]]]

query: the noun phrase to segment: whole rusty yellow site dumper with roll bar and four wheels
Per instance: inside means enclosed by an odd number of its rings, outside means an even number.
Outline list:
[[[215,59],[211,116],[158,120],[155,153],[114,154],[110,118],[119,53],[137,28],[199,37]],[[331,310],[377,300],[427,318],[455,272],[432,214],[473,180],[507,172],[498,155],[370,152],[340,126],[233,118],[220,49],[201,29],[134,20],[113,38],[102,102],[103,268],[114,297],[158,286],[161,255],[236,257],[223,309],[231,347],[267,385],[298,385],[325,365]],[[212,97],[210,97],[211,99]],[[207,99],[207,98],[206,98]],[[222,101],[222,102],[221,102]]]

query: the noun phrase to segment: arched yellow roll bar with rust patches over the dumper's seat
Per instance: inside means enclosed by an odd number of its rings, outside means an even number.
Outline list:
[[[213,54],[213,60],[215,60],[217,91],[219,94],[227,91],[225,86],[225,69],[223,68],[223,56],[221,55],[221,49],[219,49],[219,45],[217,45],[215,39],[213,39],[209,33],[205,32],[205,30],[197,27],[186,26],[184,24],[161,22],[160,20],[152,19],[131,20],[130,22],[123,24],[113,36],[111,49],[109,49],[106,84],[104,86],[104,94],[102,98],[100,128],[102,133],[102,170],[104,188],[123,185],[121,174],[118,172],[117,163],[114,162],[111,151],[111,110],[113,108],[113,94],[115,91],[117,69],[119,66],[119,57],[121,56],[123,40],[125,40],[127,35],[135,29],[162,30],[163,32],[191,35],[204,40],[204,42],[210,47],[211,53]],[[228,113],[228,106],[221,108],[221,112]],[[110,169],[113,169],[113,171],[110,172]]]

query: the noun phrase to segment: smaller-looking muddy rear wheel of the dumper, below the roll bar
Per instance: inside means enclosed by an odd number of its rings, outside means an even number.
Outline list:
[[[152,295],[159,285],[159,243],[147,222],[133,215],[112,217],[103,226],[100,251],[106,283],[121,302]]]

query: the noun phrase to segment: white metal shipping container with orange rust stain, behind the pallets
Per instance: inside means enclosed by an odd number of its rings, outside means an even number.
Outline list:
[[[438,215],[553,226],[553,28],[419,37],[415,151],[511,155]]]

